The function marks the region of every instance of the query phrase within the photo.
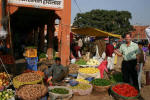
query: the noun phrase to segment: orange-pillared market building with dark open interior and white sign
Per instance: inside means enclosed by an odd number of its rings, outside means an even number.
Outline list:
[[[8,33],[5,41],[10,54],[19,58],[23,46],[33,45],[39,52],[46,48],[48,59],[53,59],[54,51],[59,52],[61,63],[68,64],[71,0],[1,0],[0,6],[0,27]],[[54,34],[56,20],[59,28]]]

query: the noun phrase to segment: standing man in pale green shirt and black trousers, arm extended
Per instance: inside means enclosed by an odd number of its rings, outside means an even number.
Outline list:
[[[139,47],[136,43],[131,41],[131,34],[125,35],[126,43],[122,44],[119,50],[114,50],[118,56],[123,56],[122,61],[122,74],[123,81],[125,83],[132,84],[136,89],[139,90],[138,74],[139,69]]]

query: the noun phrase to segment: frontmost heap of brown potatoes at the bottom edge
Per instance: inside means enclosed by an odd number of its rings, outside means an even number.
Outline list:
[[[41,84],[25,85],[16,91],[16,95],[23,100],[37,100],[48,92],[46,86]]]

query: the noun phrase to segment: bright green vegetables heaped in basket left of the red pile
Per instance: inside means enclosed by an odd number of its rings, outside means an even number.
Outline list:
[[[106,79],[94,79],[91,83],[96,86],[108,86],[111,84],[111,81]]]

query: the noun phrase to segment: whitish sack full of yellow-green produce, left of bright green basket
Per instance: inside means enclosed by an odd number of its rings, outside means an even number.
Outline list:
[[[74,95],[83,96],[92,93],[93,86],[91,84],[79,83],[77,86],[70,86]]]

